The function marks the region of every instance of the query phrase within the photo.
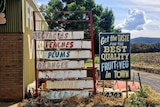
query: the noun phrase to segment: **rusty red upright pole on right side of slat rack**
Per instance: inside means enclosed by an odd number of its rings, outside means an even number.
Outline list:
[[[93,24],[92,24],[92,12],[89,12],[90,17],[90,37],[92,41],[92,74],[93,74],[93,84],[94,84],[94,94],[96,94],[96,77],[95,77],[95,64],[94,64],[94,37],[93,37]]]

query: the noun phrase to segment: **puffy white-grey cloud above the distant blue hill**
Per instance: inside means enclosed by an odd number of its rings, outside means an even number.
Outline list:
[[[129,9],[128,17],[124,22],[117,25],[118,28],[126,30],[144,30],[144,25],[151,20],[146,19],[145,12],[138,9]]]

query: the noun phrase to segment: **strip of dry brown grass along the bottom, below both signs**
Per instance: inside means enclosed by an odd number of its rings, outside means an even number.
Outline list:
[[[23,107],[141,107],[137,106],[137,103],[143,103],[147,107],[158,107],[160,105],[160,94],[148,86],[143,86],[143,88],[143,92],[147,94],[147,97],[139,96],[140,92],[136,92],[136,97],[129,97],[128,99],[107,98],[103,95],[85,98],[73,96],[60,100],[49,100],[45,97],[38,97],[28,101],[28,104]],[[140,99],[143,99],[142,102],[139,102]],[[131,100],[134,100],[134,104],[131,104]]]

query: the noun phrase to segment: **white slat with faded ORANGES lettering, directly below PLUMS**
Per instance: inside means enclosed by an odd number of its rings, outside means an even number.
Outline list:
[[[84,68],[84,60],[37,61],[37,69],[74,69]]]

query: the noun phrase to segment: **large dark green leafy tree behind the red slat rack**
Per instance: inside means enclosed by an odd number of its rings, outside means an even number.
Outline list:
[[[41,8],[40,8],[41,9]],[[44,9],[44,8],[42,8]],[[54,13],[55,11],[92,11],[95,53],[99,53],[99,33],[100,32],[120,32],[114,29],[114,15],[112,10],[103,10],[101,5],[96,5],[94,0],[50,0],[46,6],[46,20],[88,20],[86,13]],[[86,22],[50,22],[50,29],[64,28],[65,30],[88,30],[89,23]],[[85,33],[85,38],[89,38],[89,32]]]

